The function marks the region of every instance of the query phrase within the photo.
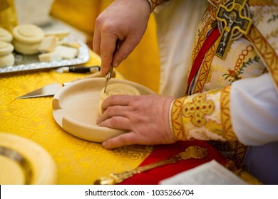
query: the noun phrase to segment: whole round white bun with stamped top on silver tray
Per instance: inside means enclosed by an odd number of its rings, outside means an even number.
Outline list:
[[[43,30],[33,24],[22,24],[13,29],[14,49],[23,55],[38,54],[38,46],[44,38]]]

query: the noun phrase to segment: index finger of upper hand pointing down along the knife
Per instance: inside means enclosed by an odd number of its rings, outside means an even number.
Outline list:
[[[113,60],[113,54],[115,52],[115,41],[117,41],[117,36],[111,36],[108,33],[103,33],[101,36],[101,74],[105,75],[110,69]]]

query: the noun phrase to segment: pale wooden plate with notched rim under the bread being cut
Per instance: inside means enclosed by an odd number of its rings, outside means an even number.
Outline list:
[[[128,80],[111,79],[108,82],[125,83],[137,88],[141,95],[154,94],[152,90]],[[125,133],[118,129],[99,127],[98,102],[105,78],[79,80],[66,85],[53,97],[53,117],[65,131],[81,139],[103,142],[105,139]]]

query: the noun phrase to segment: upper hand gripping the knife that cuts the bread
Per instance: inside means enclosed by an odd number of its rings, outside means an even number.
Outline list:
[[[118,67],[138,45],[149,18],[150,5],[146,0],[115,0],[98,16],[93,50],[101,56],[102,75],[111,65]],[[115,51],[117,40],[120,40],[120,48]]]

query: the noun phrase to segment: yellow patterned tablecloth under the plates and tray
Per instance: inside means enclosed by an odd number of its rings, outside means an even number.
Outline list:
[[[100,58],[91,52],[86,65],[99,64]],[[26,137],[46,149],[58,168],[57,184],[93,184],[109,173],[136,168],[153,150],[153,146],[103,149],[101,144],[72,136],[56,124],[52,116],[53,97],[15,99],[53,82],[85,76],[54,71],[0,75],[0,132]]]

